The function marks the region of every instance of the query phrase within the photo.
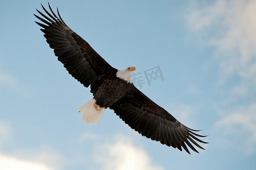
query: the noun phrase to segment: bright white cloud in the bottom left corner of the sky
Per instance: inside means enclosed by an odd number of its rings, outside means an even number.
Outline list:
[[[1,148],[11,148],[11,126],[0,120],[0,169],[59,169],[61,156],[49,147],[43,146],[38,150],[10,150],[3,152]]]

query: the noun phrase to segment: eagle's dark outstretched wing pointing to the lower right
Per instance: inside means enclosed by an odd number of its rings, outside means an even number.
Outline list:
[[[126,124],[143,136],[160,141],[163,145],[177,147],[180,151],[183,147],[188,154],[190,152],[187,146],[198,152],[193,145],[204,149],[197,142],[207,143],[197,138],[206,137],[194,132],[199,130],[193,130],[181,124],[134,86],[110,109],[113,109]]]

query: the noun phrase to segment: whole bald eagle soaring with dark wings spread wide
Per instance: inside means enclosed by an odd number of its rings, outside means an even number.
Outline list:
[[[110,108],[142,136],[178,148],[180,151],[183,147],[188,154],[188,147],[198,152],[193,145],[204,150],[197,142],[207,142],[197,137],[206,136],[197,134],[196,131],[199,130],[181,124],[134,86],[131,76],[135,67],[129,66],[125,70],[114,69],[88,42],[64,23],[58,8],[58,16],[50,5],[51,13],[43,5],[42,8],[48,16],[39,10],[36,11],[42,16],[34,15],[44,23],[36,22],[43,27],[40,30],[44,33],[50,48],[54,49],[55,56],[63,63],[69,74],[85,87],[90,86],[93,99],[79,108],[81,118],[86,124],[97,125],[105,109]]]

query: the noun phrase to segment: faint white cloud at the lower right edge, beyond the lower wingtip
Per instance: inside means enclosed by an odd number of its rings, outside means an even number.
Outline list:
[[[227,116],[217,121],[215,128],[221,129],[222,135],[229,137],[230,141],[234,142],[237,147],[246,154],[251,154],[255,151],[256,146],[256,103],[250,104],[248,107],[235,108]],[[245,135],[242,139],[241,136]],[[224,138],[225,140],[225,138]],[[237,141],[239,143],[236,143]],[[226,143],[224,141],[224,143]]]

